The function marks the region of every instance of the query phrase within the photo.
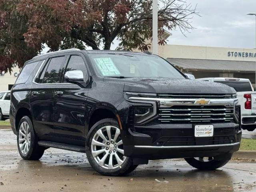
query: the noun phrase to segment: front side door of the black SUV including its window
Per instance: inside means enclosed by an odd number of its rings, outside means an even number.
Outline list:
[[[82,55],[69,56],[65,72],[72,70],[82,71],[86,82],[88,71]],[[55,136],[60,142],[84,146],[88,89],[70,84],[64,78],[62,82],[63,84],[54,90]]]

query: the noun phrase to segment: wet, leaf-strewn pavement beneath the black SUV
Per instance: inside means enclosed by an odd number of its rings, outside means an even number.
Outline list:
[[[256,163],[230,161],[215,171],[198,171],[184,160],[156,160],[127,176],[106,177],[77,152],[50,148],[40,161],[22,160],[16,136],[0,130],[0,192],[36,191],[256,192]]]

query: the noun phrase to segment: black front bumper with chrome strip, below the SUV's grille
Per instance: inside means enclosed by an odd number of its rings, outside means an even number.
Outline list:
[[[242,131],[235,123],[214,124],[213,137],[195,138],[193,124],[157,124],[122,134],[126,156],[154,160],[231,154],[239,150]]]

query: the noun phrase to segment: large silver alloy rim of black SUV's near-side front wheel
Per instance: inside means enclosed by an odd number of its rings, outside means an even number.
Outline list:
[[[93,136],[91,151],[94,160],[105,169],[121,167],[124,156],[123,141],[120,130],[115,126],[104,126]]]

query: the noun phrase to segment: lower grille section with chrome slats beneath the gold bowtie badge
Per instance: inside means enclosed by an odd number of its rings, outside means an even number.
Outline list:
[[[233,107],[226,106],[173,106],[159,108],[162,123],[224,123],[234,119]]]

